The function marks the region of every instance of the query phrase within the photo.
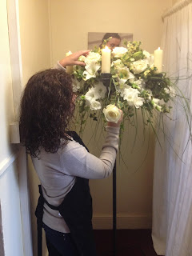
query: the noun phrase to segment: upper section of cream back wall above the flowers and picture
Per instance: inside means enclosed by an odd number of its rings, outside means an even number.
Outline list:
[[[171,5],[172,0],[50,1],[52,64],[68,50],[87,49],[87,32],[130,32],[152,53],[161,42],[161,15]]]

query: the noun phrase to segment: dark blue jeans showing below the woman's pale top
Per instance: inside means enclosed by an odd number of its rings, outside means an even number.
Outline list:
[[[61,233],[52,230],[44,223],[42,227],[46,232],[46,246],[49,256],[79,256],[70,233]]]

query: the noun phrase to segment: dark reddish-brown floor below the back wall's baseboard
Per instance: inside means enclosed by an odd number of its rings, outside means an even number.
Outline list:
[[[117,230],[114,254],[113,230],[94,230],[97,256],[157,256],[151,230]]]

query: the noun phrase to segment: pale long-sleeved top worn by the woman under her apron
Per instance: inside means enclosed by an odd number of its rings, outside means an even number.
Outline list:
[[[106,178],[113,168],[118,150],[118,127],[106,127],[106,140],[99,158],[74,140],[54,154],[41,150],[38,158],[32,158],[34,169],[42,184],[42,194],[54,206],[59,206],[74,186],[75,178]],[[58,210],[44,204],[42,221],[53,230],[69,233],[70,230]]]

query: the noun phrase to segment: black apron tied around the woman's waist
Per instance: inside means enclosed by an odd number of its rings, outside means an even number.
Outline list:
[[[81,138],[75,132],[68,133],[76,142],[85,146]],[[86,146],[85,146],[86,147]],[[60,206],[51,206],[43,198],[39,185],[40,197],[35,210],[38,223],[38,256],[42,256],[42,215],[44,202],[53,210],[58,210],[70,229],[71,237],[77,246],[79,255],[96,256],[94,234],[92,226],[92,198],[90,195],[89,180],[76,178],[76,182],[70,192],[64,198]]]

